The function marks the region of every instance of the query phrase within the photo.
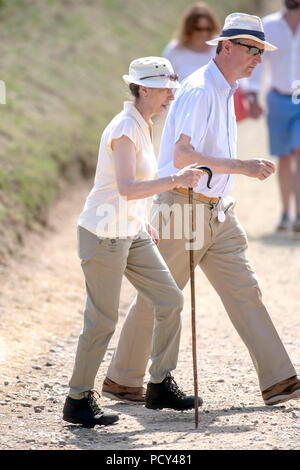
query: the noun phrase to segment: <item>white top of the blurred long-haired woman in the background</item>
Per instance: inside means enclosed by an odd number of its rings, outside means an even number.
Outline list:
[[[197,69],[208,64],[215,55],[215,47],[210,47],[207,52],[196,52],[180,44],[177,39],[170,41],[163,51],[163,57],[169,59],[180,82]]]

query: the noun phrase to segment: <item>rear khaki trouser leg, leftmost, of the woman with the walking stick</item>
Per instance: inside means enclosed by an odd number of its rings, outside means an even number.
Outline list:
[[[84,327],[79,336],[71,398],[80,399],[91,390],[118,319],[122,277],[131,241],[99,239],[79,227],[79,256],[86,283]]]

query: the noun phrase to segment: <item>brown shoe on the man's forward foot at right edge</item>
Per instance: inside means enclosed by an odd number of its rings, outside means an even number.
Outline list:
[[[282,380],[262,392],[266,405],[277,405],[288,400],[300,398],[300,380],[296,375]]]

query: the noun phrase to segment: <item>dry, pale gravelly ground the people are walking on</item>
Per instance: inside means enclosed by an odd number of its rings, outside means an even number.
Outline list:
[[[267,156],[264,120],[239,125],[239,156]],[[199,427],[194,413],[152,411],[101,399],[120,413],[117,425],[93,430],[61,419],[82,325],[84,282],[76,255],[76,222],[90,184],[66,188],[49,227],[26,237],[0,273],[0,449],[299,449],[300,402],[265,407],[245,346],[197,270]],[[264,302],[300,372],[300,240],[278,236],[276,176],[261,183],[239,177],[237,213],[249,236],[249,257]],[[185,289],[179,384],[193,391],[190,291]],[[125,280],[120,320],[96,382],[102,380],[134,289]],[[147,377],[145,378],[147,381]]]

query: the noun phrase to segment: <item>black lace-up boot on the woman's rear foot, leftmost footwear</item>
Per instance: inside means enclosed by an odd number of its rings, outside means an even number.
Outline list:
[[[81,400],[67,397],[63,410],[63,420],[68,423],[82,424],[85,428],[93,428],[96,424],[107,426],[118,421],[118,415],[104,413],[99,408],[94,394],[94,390],[89,390]]]

